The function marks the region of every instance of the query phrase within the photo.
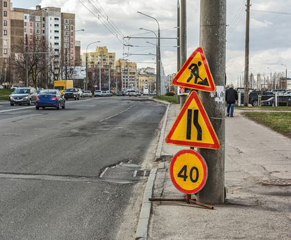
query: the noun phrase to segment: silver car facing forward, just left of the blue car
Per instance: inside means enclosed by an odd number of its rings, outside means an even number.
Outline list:
[[[31,103],[36,103],[36,88],[15,88],[14,92],[10,94],[10,105],[14,106],[14,104],[27,104],[28,106]]]

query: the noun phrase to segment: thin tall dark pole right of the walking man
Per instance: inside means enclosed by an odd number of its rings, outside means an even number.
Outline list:
[[[244,49],[244,106],[249,106],[249,12],[251,0],[246,0],[246,43]]]

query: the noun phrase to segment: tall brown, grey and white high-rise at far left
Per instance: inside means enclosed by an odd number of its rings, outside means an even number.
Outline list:
[[[16,53],[16,46],[19,49],[19,44],[25,45],[26,38],[49,43],[57,78],[62,77],[64,66],[75,66],[75,14],[40,5],[34,10],[12,8],[10,0],[0,0],[0,12],[0,67]]]

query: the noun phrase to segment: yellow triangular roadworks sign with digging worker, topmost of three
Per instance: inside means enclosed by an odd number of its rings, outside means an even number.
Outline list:
[[[202,47],[197,48],[173,79],[173,85],[215,92],[215,84]]]

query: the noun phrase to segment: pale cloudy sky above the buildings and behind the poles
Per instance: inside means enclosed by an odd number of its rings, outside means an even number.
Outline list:
[[[95,16],[84,5],[93,12]],[[125,44],[142,47],[124,47],[123,36],[148,36],[154,34],[140,30],[140,27],[151,29],[157,33],[157,23],[153,19],[138,14],[137,11],[154,16],[160,23],[162,37],[176,37],[177,29],[177,0],[12,0],[14,7],[34,8],[39,4],[42,7],[57,6],[62,12],[76,14],[76,29],[85,29],[77,32],[76,40],[81,40],[81,51],[86,51],[89,43],[100,40],[100,45],[107,46],[109,51],[116,52],[116,58],[123,58],[123,53],[153,53],[155,39],[130,39]],[[52,3],[53,2],[53,3]],[[227,82],[236,85],[238,76],[244,70],[244,36],[245,36],[245,3],[246,0],[227,1]],[[94,5],[94,6],[93,6]],[[107,14],[108,21],[101,17]],[[105,10],[105,13],[104,13]],[[255,11],[257,10],[257,11]],[[258,11],[264,12],[258,12]],[[281,12],[270,13],[270,12]],[[100,16],[103,23],[98,19]],[[187,47],[188,56],[199,47],[199,17],[200,1],[187,1]],[[111,24],[111,25],[110,25]],[[288,77],[291,76],[291,0],[251,0],[251,30],[250,30],[250,72],[254,75],[261,73],[270,75],[270,71],[284,72],[286,64]],[[118,37],[116,37],[116,34]],[[137,35],[141,34],[141,35]],[[126,38],[125,38],[126,39]],[[161,40],[161,55],[166,74],[177,71],[176,40]],[[97,45],[90,45],[88,51],[94,50]],[[140,63],[154,62],[155,56],[129,56],[127,59],[138,62],[138,67],[155,67],[155,64]],[[270,70],[269,70],[269,69]]]

